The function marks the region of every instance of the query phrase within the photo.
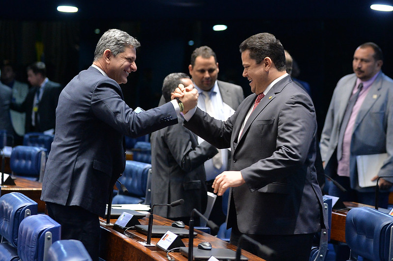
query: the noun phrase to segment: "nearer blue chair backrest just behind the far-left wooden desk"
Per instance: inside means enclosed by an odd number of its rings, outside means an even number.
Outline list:
[[[12,149],[10,167],[15,175],[42,180],[47,150],[42,147],[16,146]]]

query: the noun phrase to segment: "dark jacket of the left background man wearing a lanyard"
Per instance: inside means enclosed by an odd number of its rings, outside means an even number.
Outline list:
[[[25,132],[55,129],[56,123],[56,107],[58,97],[61,92],[59,83],[48,81],[44,86],[44,92],[38,106],[39,125],[34,127],[31,125],[31,113],[33,110],[34,97],[39,87],[31,87],[28,91],[25,101],[22,104],[13,103],[11,108],[20,112],[26,112]]]

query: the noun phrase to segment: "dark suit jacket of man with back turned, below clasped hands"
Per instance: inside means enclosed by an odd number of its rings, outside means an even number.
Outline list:
[[[197,135],[181,123],[151,134],[152,204],[184,199],[184,204],[178,207],[154,209],[167,218],[188,217],[193,209],[205,211],[207,187],[203,163],[218,153],[207,142],[198,145]]]

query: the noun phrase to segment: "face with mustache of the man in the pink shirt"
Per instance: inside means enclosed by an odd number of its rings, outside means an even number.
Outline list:
[[[353,55],[353,71],[361,80],[369,80],[381,70],[382,60],[375,60],[374,49],[370,46],[358,48]]]

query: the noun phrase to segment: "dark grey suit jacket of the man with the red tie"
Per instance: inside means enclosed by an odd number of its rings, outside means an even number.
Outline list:
[[[255,94],[225,122],[197,108],[185,127],[217,148],[231,148],[230,169],[245,184],[230,189],[227,226],[244,234],[292,235],[320,229],[322,193],[314,167],[316,119],[309,95],[289,76],[255,108],[238,140]],[[324,225],[327,226],[326,218]]]

